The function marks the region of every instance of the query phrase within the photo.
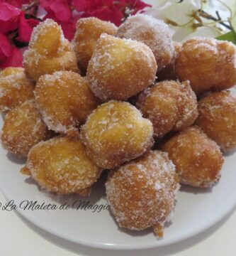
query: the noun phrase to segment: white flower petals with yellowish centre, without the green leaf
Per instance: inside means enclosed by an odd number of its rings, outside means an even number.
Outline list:
[[[227,4],[229,4],[228,8],[219,1],[220,0],[184,0],[181,2],[177,0],[147,1],[153,6],[153,9],[150,9],[147,13],[169,23],[170,28],[174,31],[173,38],[175,41],[183,41],[192,36],[208,36],[215,38],[222,35],[222,33],[226,33],[227,29],[220,26],[220,24],[215,26],[214,21],[200,16],[198,10],[203,9],[208,14],[216,16],[215,11],[219,9],[220,16],[222,15],[223,20],[227,20],[227,18],[230,17],[229,8],[232,10],[232,13],[236,10],[236,1],[226,0]],[[223,0],[223,3],[226,1]],[[216,2],[218,3],[217,5],[215,5]]]

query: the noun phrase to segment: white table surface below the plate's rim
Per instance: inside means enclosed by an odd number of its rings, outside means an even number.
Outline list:
[[[235,196],[235,195],[229,195]],[[0,193],[0,202],[6,203]],[[219,206],[220,207],[220,206]],[[235,256],[236,212],[204,233],[184,242],[157,249],[139,251],[98,250],[76,245],[35,227],[15,211],[0,209],[0,255],[3,256]]]

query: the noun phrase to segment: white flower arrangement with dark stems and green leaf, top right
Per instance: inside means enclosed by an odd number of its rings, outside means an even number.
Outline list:
[[[235,0],[158,0],[150,12],[169,23],[175,41],[207,36],[236,44]]]

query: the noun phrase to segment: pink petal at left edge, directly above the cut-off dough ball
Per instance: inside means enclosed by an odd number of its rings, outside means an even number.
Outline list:
[[[21,67],[22,53],[11,46],[9,38],[0,33],[0,68]]]

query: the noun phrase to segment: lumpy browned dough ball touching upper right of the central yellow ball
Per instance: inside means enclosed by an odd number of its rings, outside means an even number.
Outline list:
[[[156,137],[185,129],[198,117],[196,95],[188,81],[159,82],[142,92],[136,105],[152,122]]]

